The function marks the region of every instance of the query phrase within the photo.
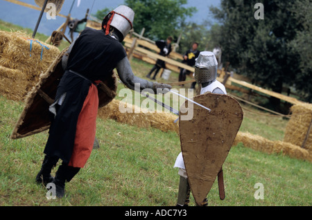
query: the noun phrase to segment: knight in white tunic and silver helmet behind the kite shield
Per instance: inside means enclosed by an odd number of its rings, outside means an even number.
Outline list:
[[[217,93],[217,94],[227,94],[225,86],[216,80],[217,77],[218,62],[214,53],[209,51],[202,51],[196,59],[195,73],[194,77],[198,84],[202,84],[202,89],[200,94],[207,92]],[[189,194],[191,188],[189,187],[189,181],[187,179],[187,172],[185,170],[185,165],[183,161],[182,152],[177,156],[174,167],[178,167],[178,174],[180,175],[179,192],[177,195],[177,205],[188,205]],[[207,205],[207,199],[205,199],[201,204],[197,205]]]

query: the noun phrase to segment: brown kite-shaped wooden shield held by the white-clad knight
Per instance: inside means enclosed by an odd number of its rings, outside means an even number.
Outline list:
[[[194,97],[193,118],[183,120],[192,108],[189,102],[180,108],[180,141],[184,165],[196,203],[206,198],[231,149],[243,111],[239,102],[228,95],[205,93]],[[184,113],[183,113],[184,112]]]

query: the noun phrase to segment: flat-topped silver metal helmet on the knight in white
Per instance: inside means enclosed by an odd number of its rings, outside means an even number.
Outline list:
[[[195,80],[198,83],[211,82],[216,80],[218,62],[214,53],[202,51],[195,63]]]

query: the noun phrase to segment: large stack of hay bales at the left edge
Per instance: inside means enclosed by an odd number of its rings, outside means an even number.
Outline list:
[[[26,33],[0,31],[0,93],[23,100],[59,53]]]

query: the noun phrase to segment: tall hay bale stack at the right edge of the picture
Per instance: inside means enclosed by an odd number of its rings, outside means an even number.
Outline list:
[[[312,104],[295,104],[291,107],[291,112],[284,141],[306,149],[309,152],[309,161],[312,161]]]

